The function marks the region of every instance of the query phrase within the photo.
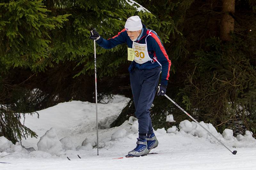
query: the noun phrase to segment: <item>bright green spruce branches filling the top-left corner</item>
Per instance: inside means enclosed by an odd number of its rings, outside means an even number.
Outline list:
[[[49,17],[41,0],[0,3],[0,55],[6,67],[42,71],[51,65],[50,31],[62,27],[68,14]]]

